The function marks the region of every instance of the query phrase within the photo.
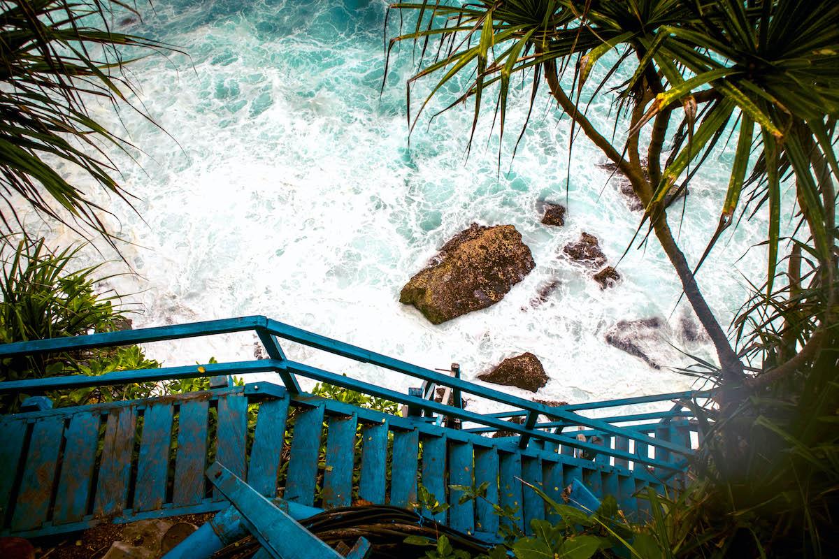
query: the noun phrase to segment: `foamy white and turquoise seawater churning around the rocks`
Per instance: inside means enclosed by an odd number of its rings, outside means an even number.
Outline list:
[[[569,120],[558,120],[545,92],[511,162],[529,84],[514,96],[499,176],[491,106],[468,158],[471,106],[428,126],[427,116],[456,91],[440,94],[409,145],[409,44],[394,49],[393,73],[379,96],[383,2],[157,0],[154,11],[142,8],[143,22],[115,20],[116,27],[177,45],[189,56],[151,56],[130,69],[146,111],[170,134],[121,112],[130,140],[144,150],[134,153],[139,164],[115,156],[122,184],[138,197],[138,215],[91,189],[116,215],[114,230],[133,243],[121,250],[136,275],[108,286],[130,294],[126,301],[142,309],[135,328],[265,314],[417,365],[446,369],[458,362],[469,380],[505,357],[531,351],[550,375],[536,397],[571,402],[690,388],[689,377],[654,370],[606,344],[607,329],[619,319],[659,316],[670,323],[669,336],[654,342],[650,355],[662,365],[690,364],[669,343],[714,358],[709,344],[680,336],[687,305],[676,307],[680,285],[654,239],[628,251],[618,267],[623,282],[607,290],[560,257],[562,246],[585,230],[600,239],[614,265],[641,215],[629,210],[614,180],[607,183],[609,173],[598,166],[605,159],[585,137],[569,163]],[[398,20],[391,18],[391,36]],[[414,112],[430,85],[412,91]],[[603,97],[589,115],[611,130],[609,111]],[[107,107],[95,112],[120,126]],[[723,154],[690,185],[680,244],[691,262],[717,225],[727,182]],[[541,225],[539,204],[565,204],[566,196],[565,227]],[[28,220],[54,245],[76,239],[68,230],[47,230],[32,215]],[[399,290],[473,221],[515,225],[536,268],[502,302],[432,325],[399,303]],[[676,213],[673,224],[679,230]],[[701,272],[701,288],[724,325],[745,298],[742,276],[765,272],[763,249],[749,249],[762,230],[762,223],[744,220]],[[89,250],[86,258],[102,256]],[[118,261],[110,266],[125,271]],[[559,287],[532,306],[539,287],[553,281]],[[247,360],[255,341],[237,334],[150,344],[147,353],[166,365],[211,356]],[[294,344],[284,347],[292,359],[399,391],[417,384]],[[486,402],[472,409],[498,407]]]

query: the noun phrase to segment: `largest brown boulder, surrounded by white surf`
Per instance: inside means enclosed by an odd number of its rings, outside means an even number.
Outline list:
[[[405,284],[399,302],[414,305],[431,323],[443,323],[498,303],[535,266],[513,225],[473,223]]]

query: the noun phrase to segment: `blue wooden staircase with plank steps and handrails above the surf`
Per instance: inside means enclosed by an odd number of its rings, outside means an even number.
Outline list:
[[[516,520],[501,521],[524,531],[530,520],[545,518],[544,501],[521,480],[558,501],[576,480],[597,498],[614,495],[624,515],[643,519],[649,503],[636,496],[638,489],[660,493],[683,483],[699,437],[691,437],[697,425],[688,407],[711,396],[694,391],[545,406],[461,380],[457,370],[424,369],[262,316],[5,344],[0,360],[247,331],[258,336],[268,359],[0,383],[0,394],[39,396],[83,386],[276,374],[275,381],[244,386],[222,382],[179,396],[0,417],[0,536],[227,509],[225,494],[205,476],[216,462],[258,494],[282,497],[299,510],[314,513],[360,500],[419,508],[485,541],[498,541],[492,505],[517,510]],[[289,360],[280,339],[409,375],[418,388],[403,394]],[[313,396],[300,389],[300,377],[399,402],[404,411],[395,415]],[[451,392],[451,400],[434,400],[438,386]],[[460,405],[464,395],[513,411],[468,411]],[[672,406],[623,415],[607,409],[649,402]],[[249,417],[255,417],[253,431]],[[496,432],[508,436],[490,437]],[[486,499],[465,503],[452,487],[484,483]],[[420,484],[450,508],[435,515],[421,510]]]

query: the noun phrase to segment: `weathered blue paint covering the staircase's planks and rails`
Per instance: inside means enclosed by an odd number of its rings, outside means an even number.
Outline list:
[[[553,488],[567,484],[571,476],[586,479],[595,494],[602,491],[616,494],[625,510],[634,502],[633,487],[655,484],[663,490],[662,481],[675,485],[685,468],[685,456],[690,455],[690,431],[696,430],[687,421],[692,417],[685,411],[682,401],[700,399],[712,395],[706,392],[682,392],[667,395],[643,396],[616,401],[588,402],[572,406],[544,406],[532,401],[494,391],[487,386],[477,386],[461,380],[459,375],[451,376],[427,370],[404,361],[395,360],[367,349],[328,339],[318,334],[296,329],[264,317],[245,317],[231,320],[211,321],[164,327],[159,329],[138,329],[127,333],[94,334],[72,339],[42,340],[24,344],[0,346],[3,355],[21,355],[55,349],[79,349],[107,347],[117,344],[142,343],[158,339],[180,339],[191,336],[220,334],[251,330],[255,332],[268,352],[267,360],[241,361],[225,364],[208,364],[184,367],[169,367],[160,370],[115,371],[99,377],[84,375],[70,377],[49,377],[44,379],[7,381],[0,383],[0,393],[37,393],[43,390],[81,386],[107,386],[149,380],[168,380],[198,376],[243,375],[249,372],[273,371],[288,388],[287,391],[273,382],[250,383],[245,387],[218,388],[209,392],[197,392],[148,401],[113,402],[79,408],[29,411],[13,418],[0,418],[6,437],[0,448],[0,468],[8,475],[0,476],[0,519],[19,505],[20,493],[26,489],[22,483],[15,487],[15,480],[30,479],[28,464],[34,460],[47,459],[40,451],[34,452],[32,444],[25,440],[28,429],[39,422],[61,422],[67,425],[66,448],[60,472],[53,472],[50,492],[55,494],[55,507],[47,512],[53,522],[44,524],[34,520],[34,528],[14,531],[20,534],[42,535],[60,533],[95,524],[105,511],[112,511],[114,521],[137,520],[164,515],[183,514],[187,511],[218,510],[223,503],[214,503],[206,498],[206,482],[201,469],[206,462],[208,413],[212,401],[218,411],[216,424],[216,458],[232,469],[237,478],[244,479],[247,471],[248,483],[260,494],[274,496],[278,484],[285,485],[285,494],[300,503],[311,503],[315,496],[317,474],[317,448],[320,446],[322,421],[328,417],[326,471],[324,473],[324,502],[327,506],[345,505],[352,494],[352,472],[356,422],[362,424],[362,473],[359,494],[362,499],[373,503],[385,501],[385,479],[388,455],[388,432],[393,432],[393,471],[390,499],[394,504],[410,506],[416,500],[416,483],[419,476],[423,484],[440,501],[453,503],[451,514],[440,515],[438,520],[450,521],[451,525],[466,527],[466,530],[492,538],[492,529],[497,526],[495,515],[489,515],[489,505],[482,500],[477,504],[456,505],[457,492],[447,491],[444,479],[459,484],[461,470],[452,462],[456,458],[468,469],[460,484],[480,485],[490,481],[487,498],[493,502],[516,508],[521,506],[521,524],[527,526],[531,518],[542,517],[541,499],[530,489],[522,490],[518,481],[507,480],[522,475],[535,484],[544,484],[551,494]],[[404,375],[422,380],[425,390],[417,394],[404,394],[375,386],[350,377],[336,375],[310,365],[288,360],[279,345],[278,338],[307,344],[353,360],[378,365]],[[336,386],[362,391],[372,396],[387,398],[409,406],[419,417],[396,417],[378,411],[357,408],[338,401],[329,401],[300,392],[296,375],[312,380],[330,382]],[[448,386],[452,393],[461,392],[481,398],[516,406],[518,411],[497,414],[479,414],[466,411],[459,406],[447,406],[430,400],[433,387]],[[290,397],[289,397],[290,396]],[[645,401],[679,400],[669,411],[644,414],[615,415],[591,419],[580,416],[576,411],[625,406]],[[258,403],[257,429],[254,436],[251,457],[245,457],[246,422],[248,403]],[[286,418],[289,405],[302,410],[292,434],[291,462],[288,479],[277,479],[280,453],[283,447]],[[177,450],[175,452],[175,494],[172,503],[164,503],[166,469],[169,466],[169,441],[173,426],[173,406],[180,413],[178,417]],[[314,407],[313,407],[314,406]],[[318,417],[310,416],[311,412]],[[319,411],[318,411],[319,410]],[[143,427],[138,432],[138,414],[143,415]],[[102,441],[102,467],[92,472],[96,457],[98,438],[98,417],[106,417],[105,440]],[[527,421],[516,424],[505,421],[507,417],[526,416]],[[550,418],[550,422],[538,422],[539,416]],[[349,417],[350,419],[347,419]],[[435,424],[434,417],[449,417],[462,422],[473,422],[480,427],[467,431]],[[86,419],[84,419],[86,418]],[[96,419],[93,419],[96,418]],[[646,422],[631,426],[616,424]],[[352,422],[352,428],[350,423]],[[27,423],[32,427],[27,427]],[[7,427],[8,426],[8,427]],[[577,426],[585,427],[580,432]],[[481,437],[482,432],[508,430],[515,437],[489,439]],[[391,431],[388,431],[391,430]],[[655,432],[656,437],[648,433]],[[86,434],[85,434],[86,433]],[[310,433],[310,436],[306,433]],[[582,433],[590,440],[576,439]],[[665,433],[665,434],[661,434]],[[140,440],[140,452],[136,464],[136,479],[131,475],[131,450],[133,442]],[[42,435],[39,435],[41,437]],[[591,437],[600,437],[605,446],[591,442]],[[61,440],[61,437],[58,437]],[[417,461],[419,442],[422,441],[424,458],[422,465]],[[613,440],[614,448],[609,448]],[[629,443],[633,440],[634,443]],[[447,449],[448,447],[448,449]],[[648,448],[653,447],[651,458]],[[26,456],[21,449],[29,448]],[[91,451],[91,448],[94,448]],[[347,449],[348,450],[344,450]],[[468,448],[468,453],[463,450]],[[633,453],[629,449],[633,448]],[[457,450],[460,449],[460,450]],[[576,458],[575,449],[595,455],[593,460]],[[557,451],[560,451],[558,453]],[[37,454],[37,456],[36,456]],[[462,455],[461,455],[462,454]],[[466,458],[468,457],[468,458]],[[474,460],[474,463],[472,462]],[[610,463],[614,461],[614,466]],[[448,463],[447,463],[448,462]],[[630,468],[630,465],[632,468]],[[659,479],[648,473],[644,465],[652,466]],[[23,469],[20,469],[23,468]],[[55,469],[55,466],[54,466]],[[18,471],[20,470],[20,471]],[[420,471],[421,470],[421,471]],[[196,475],[196,473],[198,475]],[[675,474],[675,475],[674,475]],[[91,479],[96,475],[94,495],[95,515],[87,515],[86,503],[93,488]],[[500,475],[500,484],[497,483]],[[505,479],[506,476],[506,479]],[[57,479],[56,479],[57,478]],[[468,478],[468,480],[466,480]],[[122,479],[121,483],[115,480]],[[109,480],[106,483],[103,480]],[[77,483],[76,483],[77,482]],[[28,481],[31,485],[31,481]],[[55,484],[58,488],[54,488]],[[86,486],[85,483],[88,485]],[[127,495],[127,488],[136,487],[133,495]],[[493,496],[494,492],[494,496]],[[216,498],[220,498],[216,493]],[[3,501],[13,499],[14,503]],[[530,508],[528,509],[528,501]],[[84,505],[81,505],[84,503]],[[3,506],[8,505],[8,506]],[[49,503],[48,503],[49,505]],[[127,507],[133,507],[128,509]],[[18,510],[23,510],[17,506]],[[466,510],[469,514],[466,514]],[[23,513],[19,513],[23,515]],[[35,515],[37,517],[37,515]],[[5,520],[8,525],[8,518]],[[489,531],[485,529],[489,528]],[[0,523],[0,533],[3,523]]]

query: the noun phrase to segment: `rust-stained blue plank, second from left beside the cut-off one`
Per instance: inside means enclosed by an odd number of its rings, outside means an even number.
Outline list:
[[[35,422],[12,516],[12,531],[31,530],[47,520],[63,432],[63,417]]]

